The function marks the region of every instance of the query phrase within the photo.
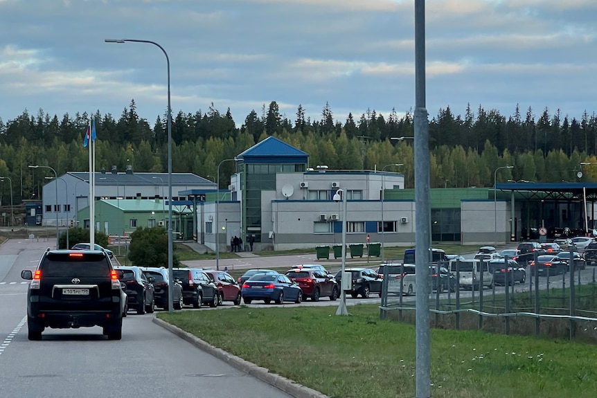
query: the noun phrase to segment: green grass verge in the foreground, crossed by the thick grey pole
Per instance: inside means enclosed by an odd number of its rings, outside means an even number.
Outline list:
[[[377,305],[161,313],[204,341],[330,397],[413,397],[415,327]],[[431,329],[431,397],[595,397],[597,347]]]

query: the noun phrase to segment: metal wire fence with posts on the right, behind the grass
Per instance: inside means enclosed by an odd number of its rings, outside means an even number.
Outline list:
[[[573,251],[569,255],[574,258]],[[439,277],[430,278],[429,311],[434,314],[430,317],[431,327],[535,334],[597,343],[597,266],[588,265],[594,264],[591,262],[581,266],[585,259],[580,257],[576,262],[568,262],[565,268],[560,267],[558,272],[547,271],[542,276],[537,271],[540,269],[538,256],[534,257],[535,265],[532,262],[520,264],[524,268],[524,282],[513,280],[514,272],[506,271],[504,278],[499,279],[504,282],[501,286],[495,283],[493,273],[488,283],[483,280],[487,273],[480,272],[474,275],[476,279],[470,289],[461,285],[464,262],[452,262],[452,271],[455,269],[452,276],[456,279],[454,291],[448,288],[442,292]],[[483,260],[479,264],[483,269]],[[504,268],[508,270],[507,259],[504,259]],[[414,323],[416,300],[407,294],[411,288],[416,295],[416,289],[412,289],[409,282],[414,275],[405,275],[403,271],[400,275],[389,275],[388,269],[384,267],[382,274],[380,316]],[[485,287],[475,287],[477,284]]]

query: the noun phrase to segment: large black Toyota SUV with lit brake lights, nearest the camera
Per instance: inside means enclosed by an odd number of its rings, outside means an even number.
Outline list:
[[[29,340],[41,340],[46,327],[103,327],[110,340],[122,338],[126,295],[103,251],[47,250],[27,293]]]

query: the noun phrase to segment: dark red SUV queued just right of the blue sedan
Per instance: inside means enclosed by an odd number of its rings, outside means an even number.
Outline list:
[[[320,297],[329,297],[331,301],[334,301],[339,296],[338,282],[326,271],[314,268],[294,268],[290,269],[286,276],[303,290],[303,300],[311,298],[312,301],[319,301]]]

